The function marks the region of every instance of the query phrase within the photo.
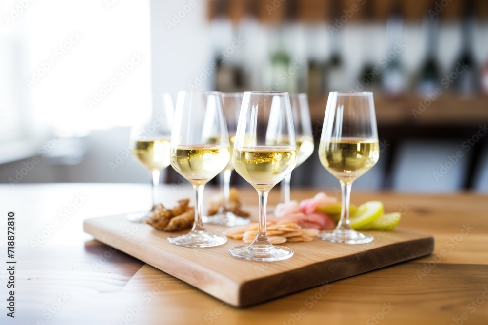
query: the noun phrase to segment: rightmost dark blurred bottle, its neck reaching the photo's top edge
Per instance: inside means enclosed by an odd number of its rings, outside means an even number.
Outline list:
[[[474,1],[467,0],[465,2],[465,14],[462,26],[461,55],[452,69],[452,71],[457,74],[457,77],[453,82],[455,89],[466,96],[474,95],[478,90],[476,62],[472,54],[473,25]]]

